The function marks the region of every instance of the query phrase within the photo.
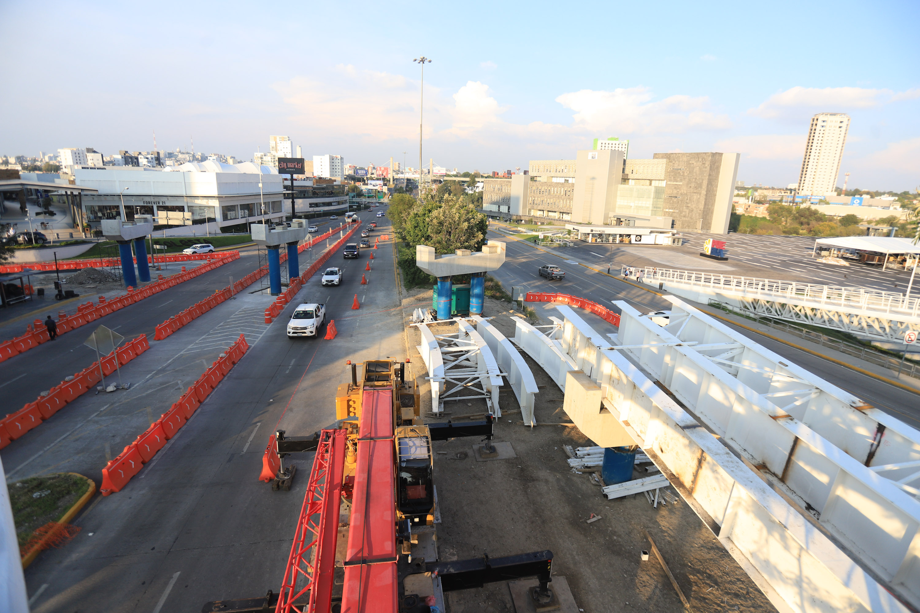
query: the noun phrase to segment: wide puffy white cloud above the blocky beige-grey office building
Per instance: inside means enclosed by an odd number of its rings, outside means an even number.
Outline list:
[[[653,134],[688,130],[726,130],[727,115],[708,110],[706,96],[669,96],[653,100],[648,87],[617,88],[612,92],[582,89],[558,96],[556,101],[575,111],[572,127],[596,133]]]

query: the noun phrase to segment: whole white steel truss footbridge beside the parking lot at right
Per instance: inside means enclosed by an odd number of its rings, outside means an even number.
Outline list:
[[[624,275],[692,301],[728,302],[742,311],[798,324],[820,325],[868,338],[900,343],[920,331],[920,298],[901,293],[833,285],[794,283],[668,268],[624,267]]]

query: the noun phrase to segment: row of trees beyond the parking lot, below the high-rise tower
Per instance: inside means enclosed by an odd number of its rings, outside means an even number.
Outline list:
[[[828,217],[811,207],[797,207],[788,204],[771,204],[766,209],[767,217],[753,217],[731,214],[729,230],[743,234],[793,234],[803,236],[857,236],[865,233],[858,226],[864,221],[854,214],[839,220]],[[871,221],[873,225],[887,225],[897,228],[895,236],[911,236],[916,233],[916,219],[912,216],[901,221],[897,215],[890,215]]]

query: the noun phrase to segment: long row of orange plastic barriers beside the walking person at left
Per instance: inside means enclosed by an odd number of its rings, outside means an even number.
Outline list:
[[[128,293],[116,299],[107,301],[105,296],[99,296],[98,304],[94,304],[92,301],[81,304],[76,308],[76,312],[73,315],[68,315],[66,312],[59,311],[58,319],[55,322],[57,324],[57,334],[63,335],[82,325],[95,322],[99,317],[108,315],[110,312],[123,309],[134,302],[142,301],[144,298],[149,298],[155,293],[163,291],[164,289],[169,289],[190,278],[203,275],[216,267],[223,266],[227,262],[232,262],[236,259],[239,259],[238,251],[228,252],[226,255],[212,259],[208,264],[203,264],[200,267],[184,270],[175,275],[170,275],[169,277],[159,275],[159,280],[141,289],[129,287]],[[50,338],[48,329],[42,324],[40,319],[36,319],[34,324],[26,326],[25,335],[16,336],[12,340],[0,343],[0,362],[29,351],[29,349],[45,343]]]

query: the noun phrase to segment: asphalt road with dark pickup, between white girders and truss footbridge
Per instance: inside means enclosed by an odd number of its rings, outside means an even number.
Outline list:
[[[670,308],[670,302],[661,299],[661,297],[650,291],[639,289],[618,278],[610,278],[590,268],[571,263],[558,257],[558,255],[539,251],[531,244],[509,240],[508,236],[495,232],[490,232],[489,238],[503,240],[508,244],[505,265],[499,270],[490,273],[507,287],[524,285],[531,291],[558,291],[559,293],[588,298],[602,303],[615,312],[618,312],[618,309],[612,304],[613,301],[627,301],[641,312]],[[578,261],[594,266],[606,266],[609,263],[608,260],[591,253],[598,246],[601,245],[585,244],[584,246],[554,250],[564,252],[567,255],[571,254],[572,262]],[[550,281],[540,277],[536,269],[543,264],[555,264],[565,270],[565,279]],[[611,274],[615,274],[617,271],[618,268],[614,267],[611,270]],[[902,419],[911,426],[920,427],[920,402],[918,402],[916,394],[860,374],[855,370],[846,369],[828,360],[817,358],[763,335],[758,335],[738,326],[732,327],[776,354],[791,359],[799,366],[811,370],[822,379],[856,395],[873,406],[879,407],[882,411]],[[802,343],[803,346],[810,345],[807,341],[802,341]]]

